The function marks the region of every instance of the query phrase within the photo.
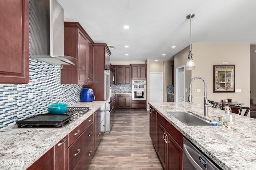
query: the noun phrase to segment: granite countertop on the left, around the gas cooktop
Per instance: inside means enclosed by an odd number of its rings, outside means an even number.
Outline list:
[[[25,170],[104,103],[105,101],[78,102],[68,106],[90,107],[90,110],[66,127],[18,128],[14,125],[1,130],[0,169]]]

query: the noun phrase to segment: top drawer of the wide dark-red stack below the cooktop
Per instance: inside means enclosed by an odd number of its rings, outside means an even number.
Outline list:
[[[83,123],[78,125],[73,131],[68,134],[68,146],[70,146],[82,132],[93,122],[93,114],[90,115]]]

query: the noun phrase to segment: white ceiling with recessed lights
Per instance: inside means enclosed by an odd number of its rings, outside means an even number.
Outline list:
[[[95,43],[115,46],[111,61],[173,61],[189,45],[188,14],[195,14],[192,44],[256,44],[256,0],[57,1],[68,20],[79,22]],[[131,28],[124,30],[124,25]]]

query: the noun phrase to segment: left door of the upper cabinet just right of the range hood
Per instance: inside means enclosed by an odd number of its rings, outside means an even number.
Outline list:
[[[87,46],[88,40],[84,33],[78,29],[78,47],[77,47],[77,58],[84,66],[87,66]],[[87,84],[87,72],[85,70],[78,70],[78,80],[77,84]]]

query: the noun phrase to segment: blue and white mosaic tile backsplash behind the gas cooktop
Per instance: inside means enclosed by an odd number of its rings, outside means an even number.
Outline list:
[[[80,102],[82,85],[60,84],[60,66],[30,59],[29,84],[0,84],[0,129],[17,120],[47,113],[56,102]]]

